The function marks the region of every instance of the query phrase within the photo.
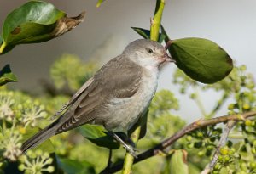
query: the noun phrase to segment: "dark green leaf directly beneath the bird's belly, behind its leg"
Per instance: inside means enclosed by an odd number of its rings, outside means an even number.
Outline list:
[[[102,126],[84,125],[79,127],[79,132],[92,143],[108,149],[119,149],[119,143],[115,142],[111,136],[108,136]]]

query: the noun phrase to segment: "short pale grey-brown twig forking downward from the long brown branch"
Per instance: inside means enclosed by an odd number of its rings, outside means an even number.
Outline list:
[[[212,171],[213,167],[215,166],[217,160],[218,160],[218,156],[220,154],[220,149],[222,147],[224,147],[224,145],[227,143],[228,141],[228,136],[230,134],[231,129],[236,125],[237,121],[229,121],[226,126],[224,127],[224,132],[222,132],[221,138],[219,140],[218,143],[218,147],[215,151],[215,153],[213,154],[212,160],[211,162],[205,167],[205,169],[203,171],[201,171],[201,174],[207,174],[210,171]]]

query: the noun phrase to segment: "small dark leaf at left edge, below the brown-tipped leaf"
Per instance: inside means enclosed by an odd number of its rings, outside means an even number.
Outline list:
[[[9,65],[5,65],[3,69],[0,71],[0,86],[3,86],[8,82],[14,81],[17,81],[15,74],[12,73]]]

